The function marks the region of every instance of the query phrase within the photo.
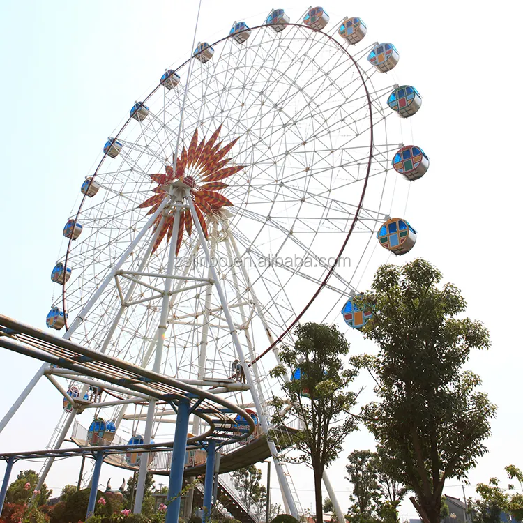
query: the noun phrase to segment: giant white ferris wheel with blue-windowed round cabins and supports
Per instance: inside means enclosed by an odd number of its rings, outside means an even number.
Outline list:
[[[198,386],[245,381],[225,396],[265,432],[280,343],[297,321],[340,310],[363,325],[351,296],[378,252],[414,246],[402,213],[429,165],[403,143],[421,97],[389,73],[395,46],[361,43],[358,17],[328,22],[320,7],[296,23],[282,9],[234,22],[159,75],[81,184],[52,271],[47,326]],[[172,434],[165,404],[129,405],[96,420],[132,438]]]

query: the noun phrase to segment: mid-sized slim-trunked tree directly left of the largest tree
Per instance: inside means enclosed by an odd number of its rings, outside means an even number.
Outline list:
[[[338,327],[305,323],[299,325],[295,333],[294,347],[280,349],[280,361],[291,369],[295,379],[285,379],[287,370],[283,365],[271,371],[271,376],[282,382],[290,400],[273,398],[273,424],[276,427],[285,425],[291,415],[301,420],[302,429],[283,439],[285,444],[299,451],[297,458],[289,460],[312,467],[316,520],[321,522],[324,468],[338,457],[343,440],[358,426],[351,415],[357,394],[348,390],[356,377],[356,370],[344,370],[342,358],[349,353],[349,343]],[[299,377],[296,377],[295,370],[300,371]]]

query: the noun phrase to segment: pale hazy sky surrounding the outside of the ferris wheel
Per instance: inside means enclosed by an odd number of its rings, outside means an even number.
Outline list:
[[[77,206],[79,185],[130,105],[151,90],[165,68],[187,56],[196,7],[195,1],[160,0],[1,3],[2,314],[45,325],[57,289],[50,271],[65,247],[61,229]],[[278,7],[296,21],[308,5],[203,0],[197,38],[216,40],[234,20],[261,23]],[[469,479],[474,484],[501,476],[506,464],[523,467],[521,248],[514,236],[522,189],[516,53],[521,8],[448,0],[330,0],[323,7],[333,21],[362,17],[370,38],[394,43],[401,55],[397,77],[423,96],[413,132],[431,164],[409,199],[407,215],[418,242],[399,261],[415,256],[432,261],[445,280],[462,289],[469,316],[490,329],[492,348],[474,354],[469,367],[483,377],[482,389],[499,409],[487,441],[490,453]],[[368,348],[357,332],[347,338],[354,351]],[[0,352],[0,416],[39,366]],[[0,435],[0,450],[45,447],[60,415],[59,395],[42,381]],[[331,467],[343,508],[349,505],[346,456],[372,445],[364,430],[351,434]],[[18,462],[13,474],[30,467],[40,465]],[[78,469],[79,460],[60,462],[47,484],[59,491],[75,483]],[[3,470],[0,464],[1,475]],[[310,506],[312,476],[291,471],[303,505]],[[102,478],[109,476],[128,473],[106,466]],[[473,494],[472,486],[466,488]],[[446,492],[461,495],[458,487]],[[409,503],[402,513],[415,517]]]

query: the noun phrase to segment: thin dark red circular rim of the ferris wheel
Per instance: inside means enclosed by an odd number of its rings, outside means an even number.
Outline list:
[[[338,40],[336,40],[334,38],[334,36],[332,36],[332,35],[330,35],[328,33],[324,33],[324,31],[321,31],[321,30],[317,31],[315,29],[312,29],[310,26],[307,26],[307,25],[304,25],[304,24],[289,23],[289,24],[285,24],[285,26],[286,27],[287,26],[289,26],[289,27],[296,27],[296,28],[299,28],[299,29],[307,29],[308,31],[312,31],[312,33],[319,33],[319,34],[321,34],[322,37],[326,37],[328,40],[330,40],[331,43],[334,43],[335,46],[338,47],[339,50],[342,50],[342,52],[344,52],[344,54],[346,54],[349,57],[349,59],[351,60],[352,64],[356,67],[356,70],[358,72],[358,77],[361,80],[361,84],[363,85],[363,89],[365,89],[365,98],[367,98],[366,105],[367,105],[367,108],[369,109],[368,118],[370,120],[370,126],[369,126],[368,130],[370,131],[370,144],[368,145],[369,153],[368,153],[367,158],[366,158],[367,167],[366,167],[365,177],[359,180],[359,181],[363,181],[363,188],[361,189],[360,199],[359,199],[358,205],[356,206],[356,210],[354,211],[354,216],[353,216],[353,218],[351,220],[351,225],[349,227],[349,231],[344,236],[344,240],[342,241],[342,245],[341,245],[341,248],[340,248],[340,250],[338,252],[338,255],[335,257],[333,263],[329,266],[328,271],[327,271],[324,279],[319,283],[319,286],[317,287],[316,291],[314,291],[314,294],[312,294],[312,296],[309,299],[309,301],[305,304],[305,307],[303,309],[301,309],[299,312],[293,311],[293,312],[296,313],[296,317],[294,317],[294,319],[292,319],[292,321],[290,321],[289,324],[287,324],[286,326],[282,327],[283,331],[282,331],[282,333],[280,333],[278,335],[278,338],[276,338],[276,340],[273,343],[271,343],[254,360],[252,360],[251,363],[249,363],[249,366],[252,365],[252,363],[256,363],[257,361],[259,361],[259,359],[261,357],[263,357],[264,355],[268,354],[269,351],[274,349],[274,347],[276,347],[276,345],[278,345],[282,341],[282,339],[285,338],[285,336],[289,333],[289,331],[291,331],[291,329],[298,323],[298,321],[301,319],[301,317],[303,317],[305,312],[307,312],[307,310],[310,308],[312,303],[314,303],[314,301],[317,299],[317,297],[321,293],[321,290],[326,287],[326,285],[328,283],[328,280],[330,280],[331,276],[333,275],[333,273],[335,271],[336,266],[338,265],[338,261],[340,260],[340,257],[342,257],[342,254],[343,254],[345,248],[347,247],[347,244],[349,243],[349,239],[351,238],[351,235],[352,235],[352,233],[354,231],[354,228],[356,227],[356,223],[358,222],[358,220],[360,218],[361,210],[362,210],[362,207],[363,207],[363,201],[365,199],[365,193],[366,193],[366,190],[367,190],[367,183],[368,183],[369,178],[370,178],[370,169],[371,169],[371,166],[372,166],[372,159],[374,157],[374,154],[373,154],[374,153],[373,105],[372,105],[372,98],[370,96],[370,91],[367,88],[367,82],[370,82],[372,84],[371,78],[367,75],[367,73],[365,71],[363,71],[361,69],[360,65],[358,64],[358,60],[354,59],[354,56],[351,53],[349,53],[349,51],[344,47],[344,45],[342,43],[338,42]],[[250,27],[249,29],[252,31],[252,30],[260,30],[260,29],[264,29],[264,28],[270,29],[271,28],[271,24],[260,24],[258,26]],[[225,36],[223,38],[220,38],[219,40],[216,40],[214,43],[209,44],[209,46],[213,47],[213,46],[218,45],[218,44],[220,44],[222,42],[225,42],[226,40],[230,40],[230,39],[234,38],[234,36],[235,36],[235,33],[228,34],[227,36]],[[177,71],[181,70],[188,63],[190,63],[190,61],[193,60],[193,59],[195,59],[195,54],[192,54],[190,56],[190,58],[188,58],[183,63],[181,63],[181,65],[179,65],[176,68],[174,68],[174,73],[176,73]],[[158,89],[160,89],[162,86],[163,86],[162,83],[158,82],[158,85],[142,100],[141,104],[142,105],[145,104],[147,102],[147,100],[149,100],[149,98],[151,98],[151,96],[153,96],[158,91]],[[121,133],[128,127],[128,124],[130,123],[130,121],[132,119],[133,119],[132,116],[128,116],[128,119],[123,123],[121,128],[114,135],[114,140],[115,141],[120,137]],[[98,162],[98,166],[96,167],[95,172],[92,174],[92,176],[90,175],[93,180],[96,179],[96,176],[98,175],[98,172],[100,171],[100,168],[103,166],[103,162],[105,161],[107,156],[108,156],[107,153],[103,154],[102,158],[100,159],[100,162]],[[364,162],[362,162],[362,164],[364,164]],[[81,202],[79,204],[77,213],[75,214],[75,217],[73,218],[74,222],[77,222],[77,220],[79,219],[79,215],[80,215],[80,213],[82,213],[82,209],[83,209],[84,203],[86,202],[87,195],[82,195],[82,196],[83,197],[82,197]],[[67,250],[66,250],[66,256],[65,256],[65,259],[63,261],[64,271],[66,271],[66,269],[68,268],[68,259],[69,259],[69,255],[70,255],[70,252],[71,252],[71,247],[73,245],[72,242],[73,242],[73,238],[68,238],[68,245],[67,245]],[[64,320],[65,320],[65,327],[66,327],[66,334],[67,334],[67,331],[68,331],[68,328],[69,328],[69,324],[68,324],[68,314],[67,314],[66,289],[67,289],[67,282],[64,281],[63,284],[62,284],[62,300],[61,301],[62,301],[63,316],[64,316]]]

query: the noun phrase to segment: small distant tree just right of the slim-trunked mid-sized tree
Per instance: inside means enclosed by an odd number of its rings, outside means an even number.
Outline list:
[[[377,519],[381,491],[378,484],[376,455],[370,450],[354,450],[345,465],[348,479],[352,483],[349,520],[355,523],[372,522]]]

